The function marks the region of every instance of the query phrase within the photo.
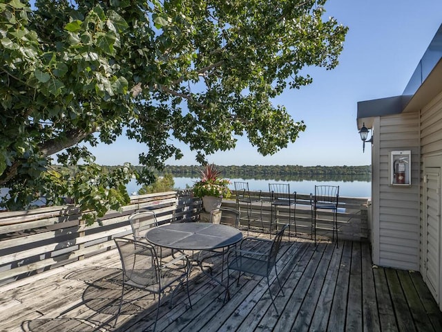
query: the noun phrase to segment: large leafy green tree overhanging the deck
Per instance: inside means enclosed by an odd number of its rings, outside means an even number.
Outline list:
[[[238,136],[275,153],[305,124],[272,99],[309,84],[305,68],[334,68],[347,32],[324,19],[325,0],[0,2],[0,187],[10,209],[40,195],[71,196],[99,215],[117,208],[133,170],[103,174],[81,144],[124,133],[146,145],[146,169],[180,158],[177,141],[200,163]]]

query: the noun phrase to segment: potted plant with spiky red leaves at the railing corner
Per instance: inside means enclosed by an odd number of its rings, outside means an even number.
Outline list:
[[[206,164],[201,172],[201,180],[193,185],[193,195],[202,199],[206,212],[219,209],[223,198],[231,195],[226,178],[220,178],[221,172],[213,164]]]

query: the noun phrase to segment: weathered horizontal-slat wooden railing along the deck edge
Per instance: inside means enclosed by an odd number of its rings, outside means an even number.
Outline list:
[[[270,205],[268,197],[263,196],[262,199],[262,219],[268,232]],[[189,190],[132,196],[131,203],[122,212],[110,211],[99,223],[90,226],[81,221],[79,209],[70,205],[0,212],[0,285],[115,248],[113,238],[131,234],[128,215],[136,210],[155,210],[160,224],[189,222],[200,219],[201,204],[200,199],[193,198]],[[237,208],[235,196],[224,200],[222,204]],[[367,199],[342,198],[340,208],[340,239],[366,239]],[[244,211],[244,206],[240,206],[240,210]],[[279,213],[280,223],[285,223],[287,209],[281,209]],[[245,215],[242,212],[242,225]],[[253,205],[253,228],[260,227],[260,215],[260,205]],[[325,225],[322,233],[325,236],[331,235],[327,226],[330,216],[327,213],[320,215]],[[298,195],[296,225],[298,232],[307,236],[310,234],[311,218],[307,195]]]

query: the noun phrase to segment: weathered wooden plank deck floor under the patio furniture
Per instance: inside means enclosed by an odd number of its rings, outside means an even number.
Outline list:
[[[184,288],[172,309],[166,294],[157,331],[442,331],[442,313],[421,275],[377,268],[369,257],[368,243],[340,241],[336,248],[285,239],[278,261],[285,293],[276,298],[279,315],[265,279],[243,276],[237,286],[233,273],[231,299],[223,304],[223,288],[195,268],[189,282],[193,307]],[[119,268],[117,251],[111,250],[0,287],[0,331],[149,331],[157,304],[152,295],[125,304],[112,326]]]

